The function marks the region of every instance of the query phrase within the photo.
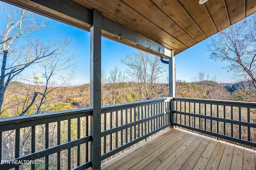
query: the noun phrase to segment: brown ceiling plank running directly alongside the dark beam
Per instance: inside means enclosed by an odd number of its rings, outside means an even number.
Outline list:
[[[83,4],[83,0],[75,0],[75,2]],[[133,26],[134,28],[145,32],[146,34],[142,34],[143,36],[146,36],[149,39],[153,37],[158,40],[158,43],[161,45],[169,45],[170,49],[174,49],[175,54],[188,48],[186,45],[162,31],[158,26],[148,22],[138,12],[120,0],[88,0],[87,3],[88,2],[92,3],[97,10],[102,11],[102,16],[105,16],[115,22],[122,23],[122,25],[126,27],[129,26],[130,29],[132,29],[131,26]]]

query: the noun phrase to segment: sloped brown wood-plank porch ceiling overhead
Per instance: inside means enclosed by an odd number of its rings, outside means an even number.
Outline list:
[[[77,20],[77,18],[90,15],[90,12],[86,13],[83,9],[79,10],[77,6],[72,6],[79,4],[79,6],[88,10],[95,8],[102,12],[104,18],[114,21],[114,23],[124,26],[168,49],[174,49],[174,55],[256,12],[256,0],[208,0],[205,4],[199,4],[199,0],[3,1],[85,30],[90,28],[90,18],[88,18],[88,21],[83,21],[86,24],[81,22],[83,19]],[[57,2],[58,5],[56,5]],[[64,6],[64,2],[70,5]],[[48,6],[48,8],[42,6]],[[64,12],[57,13],[49,10],[49,8],[55,11],[61,8],[60,11]],[[69,13],[67,14],[65,10]],[[61,13],[65,13],[66,16],[62,17]],[[118,42],[140,48],[138,44],[126,42],[126,40],[117,36],[111,36],[109,32],[105,32],[103,35]]]

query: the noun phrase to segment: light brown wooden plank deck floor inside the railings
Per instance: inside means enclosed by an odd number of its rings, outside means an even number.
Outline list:
[[[102,163],[104,170],[255,170],[256,150],[178,128],[166,128]]]

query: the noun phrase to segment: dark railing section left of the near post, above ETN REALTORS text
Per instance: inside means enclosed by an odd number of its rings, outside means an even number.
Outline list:
[[[91,115],[86,108],[0,119],[0,169],[90,167]]]

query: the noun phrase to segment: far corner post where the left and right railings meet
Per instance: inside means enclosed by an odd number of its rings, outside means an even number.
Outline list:
[[[169,97],[175,97],[175,63],[174,63],[174,50],[172,50],[172,56],[169,58]],[[171,115],[170,122],[171,127],[174,128],[174,101],[170,102]]]

